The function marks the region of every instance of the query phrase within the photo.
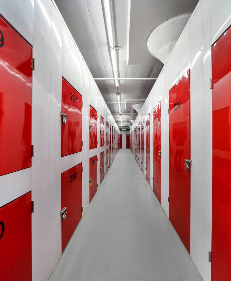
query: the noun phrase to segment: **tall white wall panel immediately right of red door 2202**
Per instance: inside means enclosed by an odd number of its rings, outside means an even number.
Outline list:
[[[190,108],[191,108],[191,220],[190,255],[203,275],[204,224],[204,81],[202,7],[198,7],[190,30]],[[200,137],[198,137],[200,136]]]

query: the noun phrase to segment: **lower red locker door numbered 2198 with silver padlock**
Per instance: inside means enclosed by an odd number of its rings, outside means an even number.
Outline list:
[[[65,207],[66,220],[62,219],[62,252],[82,217],[82,163],[61,174],[61,209]]]

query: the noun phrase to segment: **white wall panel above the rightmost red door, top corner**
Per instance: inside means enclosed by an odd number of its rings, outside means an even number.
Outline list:
[[[230,11],[230,0],[210,0],[211,45],[231,25]]]

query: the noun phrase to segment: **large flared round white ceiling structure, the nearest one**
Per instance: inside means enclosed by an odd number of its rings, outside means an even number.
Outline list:
[[[191,13],[172,17],[153,29],[147,43],[151,55],[165,64],[190,16]]]

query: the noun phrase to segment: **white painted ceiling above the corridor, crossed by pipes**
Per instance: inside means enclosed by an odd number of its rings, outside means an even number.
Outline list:
[[[103,1],[103,0],[102,0]],[[101,0],[55,0],[94,78],[112,78],[110,50],[107,42]],[[111,0],[114,15],[118,76],[121,78],[158,77],[163,63],[148,51],[147,40],[155,27],[166,20],[193,12],[198,0]],[[130,19],[128,20],[128,11]],[[128,30],[129,27],[129,30]],[[128,38],[129,34],[129,38]],[[129,43],[129,47],[128,47]],[[128,57],[127,57],[128,52]],[[128,58],[128,64],[127,64]],[[133,104],[147,98],[154,80],[96,80],[105,101],[117,102],[120,93],[123,125],[131,125],[137,112]],[[143,99],[143,100],[140,100]],[[120,126],[118,105],[108,103]],[[125,114],[126,113],[126,114]]]

